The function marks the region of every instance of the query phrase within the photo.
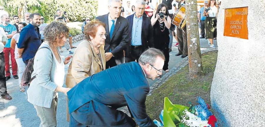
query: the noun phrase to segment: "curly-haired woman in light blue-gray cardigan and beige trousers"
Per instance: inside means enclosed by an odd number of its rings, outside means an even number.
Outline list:
[[[37,111],[42,127],[56,127],[56,110],[58,91],[66,94],[70,88],[64,84],[64,64],[69,63],[72,56],[65,60],[59,54],[58,46],[63,46],[69,28],[59,22],[52,22],[44,30],[45,41],[39,47],[35,57],[32,77],[36,76],[27,90],[28,101]]]

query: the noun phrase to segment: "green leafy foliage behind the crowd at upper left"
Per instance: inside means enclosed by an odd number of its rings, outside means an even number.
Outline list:
[[[56,10],[66,11],[70,21],[84,21],[86,17],[95,19],[97,12],[97,0],[25,0],[28,11],[38,12],[46,22],[53,21]],[[19,4],[12,4],[19,3]],[[18,15],[18,8],[24,4],[24,0],[0,0],[1,6],[10,16]],[[21,18],[23,19],[23,18]]]

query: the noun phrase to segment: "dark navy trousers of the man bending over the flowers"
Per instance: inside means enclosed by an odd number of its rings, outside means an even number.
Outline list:
[[[70,114],[69,127],[135,127],[135,121],[122,111],[90,101]]]

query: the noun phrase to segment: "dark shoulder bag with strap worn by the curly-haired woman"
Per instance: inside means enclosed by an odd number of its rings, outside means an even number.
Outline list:
[[[41,47],[39,49],[43,49],[43,48],[49,49],[47,47]],[[39,51],[39,49],[37,51]],[[36,54],[37,54],[37,52],[36,52]],[[52,58],[53,58],[53,56],[52,56]],[[31,74],[33,72],[33,65],[34,65],[34,57],[32,59],[29,59],[29,62],[25,68],[25,71],[23,72],[23,75],[21,77],[21,86],[27,86],[27,85],[29,86],[30,83],[32,82],[32,80],[36,78],[36,75],[31,77]]]

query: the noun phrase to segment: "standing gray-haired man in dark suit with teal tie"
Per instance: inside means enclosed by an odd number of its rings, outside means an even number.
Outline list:
[[[127,19],[120,16],[122,9],[120,0],[109,0],[108,9],[110,13],[96,18],[106,24],[107,36],[104,47],[106,68],[123,63],[123,50],[129,42],[129,24]]]

